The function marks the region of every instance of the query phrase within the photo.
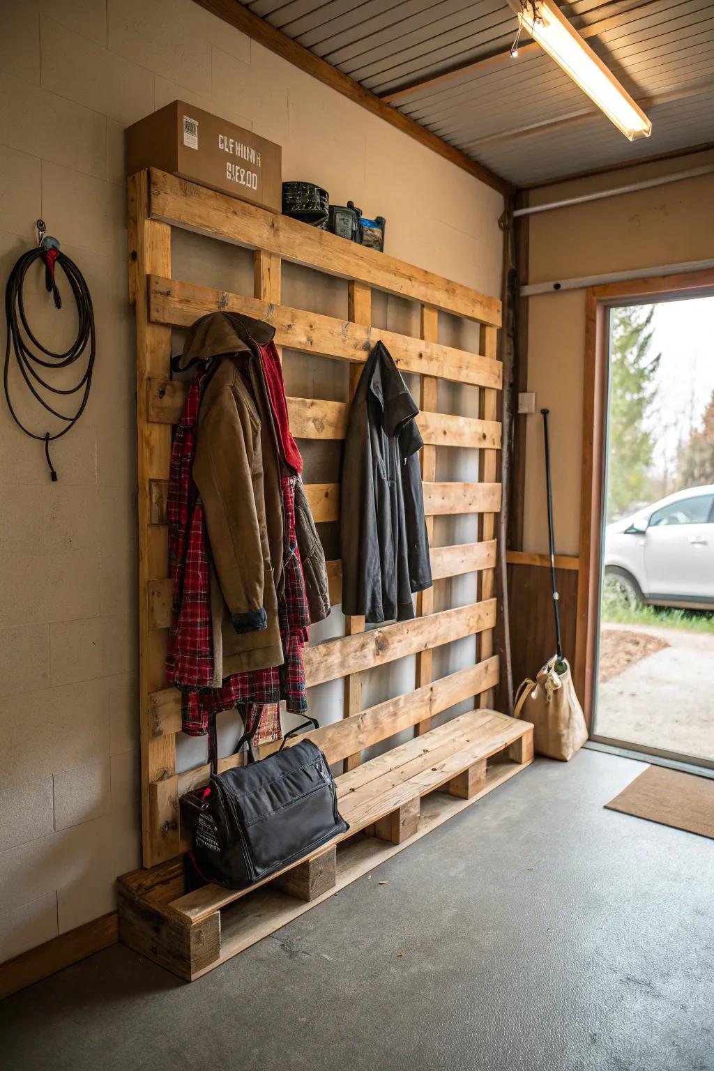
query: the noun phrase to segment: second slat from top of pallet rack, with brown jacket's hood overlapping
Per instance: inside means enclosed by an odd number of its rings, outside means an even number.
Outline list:
[[[502,384],[500,361],[452,346],[425,343],[395,331],[273,305],[240,293],[164,276],[149,276],[148,287],[149,313],[154,323],[189,328],[199,316],[227,310],[271,323],[275,328],[276,345],[303,353],[364,364],[373,347],[382,342],[402,372],[438,376],[475,387],[500,388]]]

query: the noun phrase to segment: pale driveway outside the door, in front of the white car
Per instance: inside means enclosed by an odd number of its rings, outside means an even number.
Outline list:
[[[714,759],[714,636],[650,625],[668,646],[599,684],[595,731],[617,740]]]

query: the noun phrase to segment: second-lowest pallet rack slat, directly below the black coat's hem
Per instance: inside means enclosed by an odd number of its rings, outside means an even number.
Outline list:
[[[356,636],[308,646],[303,661],[308,687],[383,665],[427,647],[474,635],[496,623],[496,600],[445,609],[428,617],[397,621]]]

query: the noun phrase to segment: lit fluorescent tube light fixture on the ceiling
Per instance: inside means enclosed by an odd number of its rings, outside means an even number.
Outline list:
[[[535,17],[534,17],[535,13]],[[553,0],[528,0],[518,19],[533,41],[594,101],[626,138],[649,137],[652,123],[589,44],[574,30]]]

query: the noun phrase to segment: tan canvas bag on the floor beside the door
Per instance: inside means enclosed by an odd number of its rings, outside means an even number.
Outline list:
[[[564,664],[558,673],[556,662]],[[550,659],[535,680],[527,677],[516,692],[514,718],[534,726],[533,746],[538,755],[567,761],[588,739],[582,708],[578,703],[566,659]]]

